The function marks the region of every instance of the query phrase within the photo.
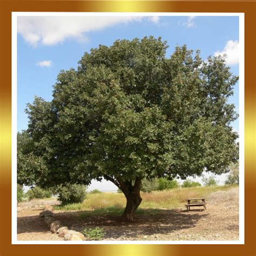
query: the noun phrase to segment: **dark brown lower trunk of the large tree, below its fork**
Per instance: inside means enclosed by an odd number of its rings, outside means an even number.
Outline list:
[[[122,214],[122,220],[133,221],[133,215],[140,203],[142,203],[142,198],[139,192],[130,192],[125,195],[126,197],[126,207]]]

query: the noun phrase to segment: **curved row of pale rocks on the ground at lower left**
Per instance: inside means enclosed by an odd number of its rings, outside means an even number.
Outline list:
[[[50,227],[52,233],[57,233],[59,237],[63,237],[66,241],[82,241],[85,237],[82,233],[75,230],[69,230],[68,227],[62,226],[59,220],[53,217],[53,208],[50,205],[44,207],[44,211],[39,214],[44,218],[44,222]]]

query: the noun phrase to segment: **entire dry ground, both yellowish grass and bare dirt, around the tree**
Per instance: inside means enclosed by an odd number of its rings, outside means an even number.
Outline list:
[[[143,193],[142,197],[134,223],[119,220],[125,198],[118,193],[88,194],[82,204],[55,205],[55,215],[79,232],[103,228],[104,240],[238,240],[237,186],[177,188]],[[207,198],[206,211],[185,211],[184,199],[194,197]],[[34,200],[36,207],[25,206],[18,212],[18,240],[60,240],[38,217],[43,208],[38,203],[43,205]]]

